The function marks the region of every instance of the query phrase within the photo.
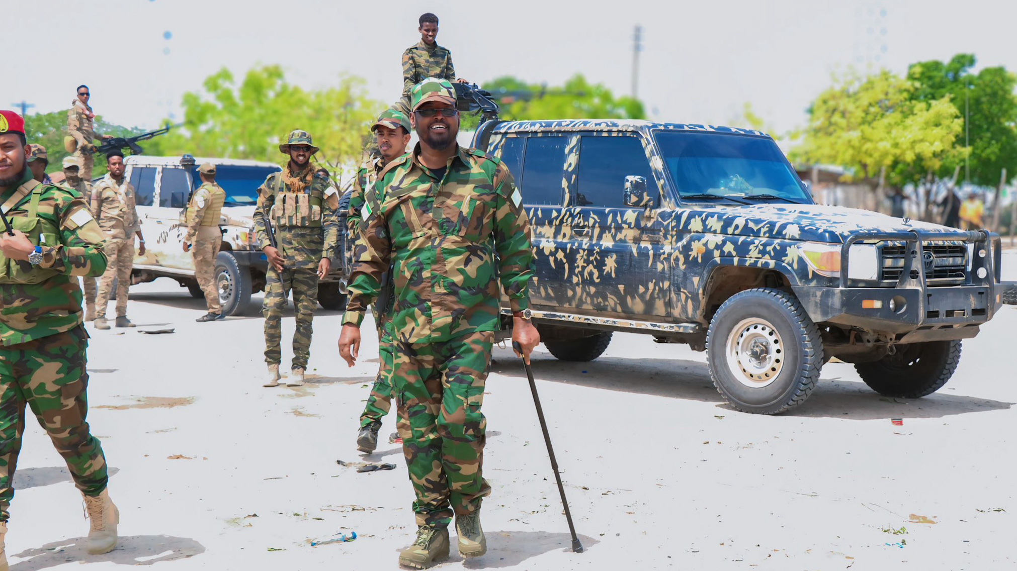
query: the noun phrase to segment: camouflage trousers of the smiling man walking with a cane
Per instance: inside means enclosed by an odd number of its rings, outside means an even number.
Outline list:
[[[480,406],[493,342],[491,331],[395,342],[397,429],[417,498],[417,525],[446,527],[454,513],[477,511],[491,493],[482,470],[487,421]]]

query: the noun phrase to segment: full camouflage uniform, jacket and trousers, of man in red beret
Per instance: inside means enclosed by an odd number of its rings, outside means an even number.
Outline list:
[[[38,266],[0,254],[0,522],[14,496],[12,479],[27,404],[85,496],[107,485],[106,458],[85,422],[85,347],[81,291],[74,276],[106,269],[103,233],[77,194],[38,184],[29,173],[0,196],[15,229],[42,246]]]

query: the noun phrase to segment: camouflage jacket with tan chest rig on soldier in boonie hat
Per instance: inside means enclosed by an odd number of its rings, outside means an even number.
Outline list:
[[[264,224],[267,213],[276,231],[276,246],[288,268],[316,268],[322,259],[336,256],[339,194],[327,177],[314,174],[316,170],[308,164],[308,170],[296,177],[303,186],[298,188],[286,182],[290,177],[286,167],[268,175],[257,191],[254,234],[258,246],[263,250],[272,245]]]

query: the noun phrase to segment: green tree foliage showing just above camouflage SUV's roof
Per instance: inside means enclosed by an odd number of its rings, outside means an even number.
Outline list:
[[[484,83],[501,106],[500,117],[512,121],[535,119],[645,119],[639,100],[615,97],[601,83],[577,74],[560,87],[498,77]]]

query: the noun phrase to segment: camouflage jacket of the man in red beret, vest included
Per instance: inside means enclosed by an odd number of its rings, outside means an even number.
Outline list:
[[[27,171],[27,170],[26,170]],[[106,271],[103,231],[76,191],[55,185],[28,188],[32,173],[19,186],[0,196],[3,211],[11,225],[42,246],[43,261],[33,266],[26,261],[0,256],[0,343],[9,346],[47,335],[62,333],[81,323],[81,289],[75,276],[97,277]],[[45,230],[28,215],[38,195],[37,217]]]

